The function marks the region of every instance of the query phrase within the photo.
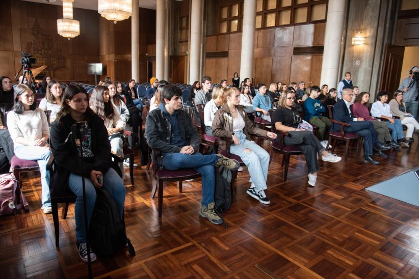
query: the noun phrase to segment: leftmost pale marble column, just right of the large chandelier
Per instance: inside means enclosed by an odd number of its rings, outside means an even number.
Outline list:
[[[140,3],[132,0],[133,11],[131,15],[131,77],[140,81]]]

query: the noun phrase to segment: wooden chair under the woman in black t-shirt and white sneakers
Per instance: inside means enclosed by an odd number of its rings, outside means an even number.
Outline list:
[[[301,148],[295,145],[286,145],[285,144],[285,136],[290,136],[289,133],[279,131],[275,128],[275,124],[273,121],[273,117],[271,115],[271,123],[272,123],[272,132],[278,134],[278,141],[272,139],[271,141],[271,150],[269,151],[269,164],[271,164],[274,151],[277,151],[282,154],[282,163],[281,166],[284,166],[284,176],[283,179],[286,181],[286,177],[288,175],[288,166],[290,164],[290,158],[292,155],[301,155],[303,152]]]

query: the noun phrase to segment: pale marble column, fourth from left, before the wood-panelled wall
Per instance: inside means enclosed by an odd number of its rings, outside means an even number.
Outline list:
[[[240,61],[240,80],[253,75],[253,48],[256,21],[256,0],[245,0],[243,10],[242,56]]]

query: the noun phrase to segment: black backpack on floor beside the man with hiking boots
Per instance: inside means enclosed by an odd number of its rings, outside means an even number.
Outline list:
[[[215,210],[224,212],[231,206],[231,170],[226,166],[215,167]]]

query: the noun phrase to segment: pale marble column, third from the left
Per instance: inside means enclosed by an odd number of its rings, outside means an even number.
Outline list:
[[[201,29],[203,0],[192,0],[191,3],[191,38],[189,50],[189,83],[200,80],[201,62]]]

